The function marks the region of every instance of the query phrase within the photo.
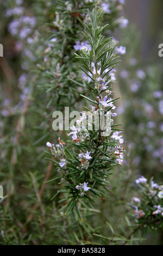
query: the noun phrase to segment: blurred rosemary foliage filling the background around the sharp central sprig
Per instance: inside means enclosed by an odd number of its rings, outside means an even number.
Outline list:
[[[161,27],[154,15],[162,3],[136,2],[0,3],[0,43],[4,48],[4,57],[0,57],[1,244],[162,244],[163,205],[157,184],[163,185],[163,89],[161,58],[156,58],[162,31],[154,34],[153,28]],[[139,26],[146,17],[146,27],[138,27],[141,31],[130,22],[133,4],[137,10],[133,20]],[[109,179],[109,198],[96,200],[94,209],[82,205],[85,218],[79,225],[78,216],[72,219],[59,211],[61,196],[51,200],[60,185],[58,180],[44,183],[57,175],[44,151],[47,141],[56,144],[58,137],[67,139],[66,132],[52,129],[52,113],[63,111],[64,106],[78,111],[83,108],[78,92],[87,95],[85,77],[74,53],[88,44],[81,32],[83,22],[90,24],[87,8],[91,11],[95,5],[104,10],[102,25],[109,23],[106,38],[114,36],[114,41],[119,41],[117,53],[122,62],[112,75],[112,87],[114,98],[121,96],[116,103],[116,123],[123,123],[127,143],[123,166],[114,168]],[[151,29],[147,20],[155,21]],[[140,175],[145,176],[142,186],[135,183]]]

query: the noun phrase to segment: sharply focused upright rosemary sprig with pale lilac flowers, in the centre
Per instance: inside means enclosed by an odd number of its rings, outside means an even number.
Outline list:
[[[87,112],[77,120],[76,127],[70,127],[72,131],[67,133],[67,136],[72,136],[70,145],[65,147],[60,138],[57,145],[47,142],[51,155],[55,156],[55,160],[51,161],[56,164],[59,173],[51,181],[61,180],[61,189],[54,197],[59,193],[64,194],[60,203],[66,203],[60,210],[65,210],[65,214],[74,207],[78,211],[80,199],[93,208],[91,202],[95,202],[96,197],[108,197],[107,178],[112,167],[121,165],[123,161],[123,139],[119,136],[121,130],[116,129],[117,125],[112,120],[116,115],[113,109],[117,99],[112,99],[110,86],[111,71],[119,60],[114,55],[114,41],[104,39],[102,35],[108,25],[98,26],[102,14],[98,14],[97,8],[93,9],[92,15],[89,12],[91,28],[84,24],[87,34],[83,34],[91,49],[83,46],[80,54],[76,54],[83,64],[80,68],[91,79],[90,83],[85,81],[90,97],[81,96],[93,105],[91,108],[85,107]]]

